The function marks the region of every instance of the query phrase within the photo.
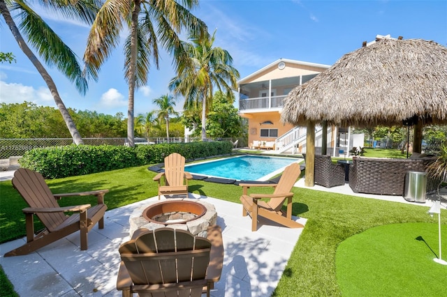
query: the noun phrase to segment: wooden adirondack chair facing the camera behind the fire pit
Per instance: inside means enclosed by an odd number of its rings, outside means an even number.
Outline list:
[[[184,156],[179,153],[171,153],[165,158],[165,172],[153,178],[159,182],[159,200],[160,195],[186,195],[188,198],[188,180],[193,176],[184,171],[184,163]]]

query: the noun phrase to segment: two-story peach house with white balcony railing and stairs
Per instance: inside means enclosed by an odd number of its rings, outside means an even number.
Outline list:
[[[240,79],[237,82],[240,93],[239,112],[240,116],[248,119],[249,146],[261,144],[264,148],[272,148],[277,152],[295,152],[297,149],[302,152],[298,139],[305,135],[305,128],[280,121],[284,99],[295,86],[304,84],[329,67],[318,63],[279,59]]]

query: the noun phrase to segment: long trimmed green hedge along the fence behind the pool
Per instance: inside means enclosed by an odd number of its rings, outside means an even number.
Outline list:
[[[192,142],[127,146],[54,146],[24,153],[20,165],[45,178],[64,178],[163,162],[170,153],[186,160],[231,153],[231,142]]]

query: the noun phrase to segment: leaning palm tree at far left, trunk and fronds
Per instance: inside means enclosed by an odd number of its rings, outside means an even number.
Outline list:
[[[44,8],[52,10],[54,13],[62,13],[65,17],[72,17],[83,22],[91,23],[94,20],[97,6],[94,0],[80,0],[80,1],[41,1]],[[20,19],[17,25],[15,24],[10,12],[14,11]],[[52,93],[54,102],[56,102],[59,112],[70,131],[71,137],[75,144],[83,144],[81,135],[76,128],[71,115],[68,113],[64,102],[59,96],[56,84],[47,70],[43,67],[41,62],[37,59],[27,43],[22,37],[22,33],[28,38],[29,43],[41,55],[42,59],[50,66],[57,66],[59,70],[75,83],[76,88],[83,95],[87,91],[87,80],[82,76],[82,68],[78,63],[78,59],[74,52],[52,31],[50,26],[24,1],[0,0],[0,12],[8,24],[10,31],[13,33],[20,49],[27,55],[28,59],[33,63],[34,67],[41,74],[43,80]],[[18,29],[20,28],[20,30]]]

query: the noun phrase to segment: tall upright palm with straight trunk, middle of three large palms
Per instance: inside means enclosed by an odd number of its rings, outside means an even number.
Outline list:
[[[85,75],[98,78],[98,70],[111,50],[119,44],[119,33],[124,24],[129,36],[124,43],[124,77],[129,85],[127,139],[133,141],[133,109],[135,89],[147,83],[152,58],[159,68],[159,45],[175,58],[175,68],[184,59],[179,39],[182,29],[189,34],[203,34],[206,25],[189,10],[198,6],[198,0],[108,0],[94,21],[84,54]]]

